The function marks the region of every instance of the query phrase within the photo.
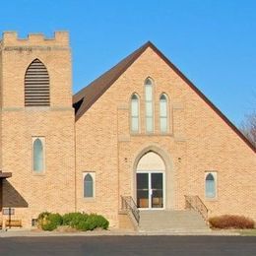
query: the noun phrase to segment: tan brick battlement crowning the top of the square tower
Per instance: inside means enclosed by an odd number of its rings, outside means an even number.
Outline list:
[[[29,33],[27,38],[19,38],[18,32],[3,32],[0,39],[2,47],[10,46],[69,46],[69,32],[54,32],[52,38],[43,33]]]

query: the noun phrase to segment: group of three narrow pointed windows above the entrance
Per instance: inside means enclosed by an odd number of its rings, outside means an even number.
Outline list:
[[[154,82],[147,78],[144,84],[144,103],[145,103],[145,130],[147,133],[153,133],[155,129],[155,102],[154,102]],[[131,131],[139,133],[140,131],[140,97],[137,94],[131,96]],[[165,94],[161,94],[159,98],[160,116],[160,132],[168,132],[168,99]]]

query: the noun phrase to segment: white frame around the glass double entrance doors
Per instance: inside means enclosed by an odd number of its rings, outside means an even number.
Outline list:
[[[166,207],[166,202],[165,202],[165,171],[164,170],[137,170],[135,173],[135,184],[136,184],[136,189],[135,189],[135,194],[136,194],[136,202],[137,202],[137,173],[148,173],[149,175],[149,207],[148,208],[138,208],[140,211],[145,211],[145,210],[150,210],[150,211],[160,211],[160,210],[165,210]],[[152,208],[152,198],[151,198],[151,192],[152,190],[151,187],[151,177],[152,173],[161,173],[162,174],[162,203],[163,207],[162,208]]]

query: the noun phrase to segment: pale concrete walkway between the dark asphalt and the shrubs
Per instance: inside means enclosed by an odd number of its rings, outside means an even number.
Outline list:
[[[214,236],[235,236],[239,232],[230,230],[164,230],[164,231],[129,231],[122,229],[95,230],[95,231],[41,231],[37,229],[8,229],[0,230],[0,237],[41,237],[41,236],[102,236],[102,235],[214,235]]]

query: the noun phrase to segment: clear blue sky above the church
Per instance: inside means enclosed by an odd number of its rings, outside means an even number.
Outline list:
[[[78,92],[153,41],[236,125],[256,108],[254,0],[13,0],[0,32],[69,31]]]

